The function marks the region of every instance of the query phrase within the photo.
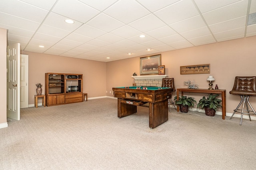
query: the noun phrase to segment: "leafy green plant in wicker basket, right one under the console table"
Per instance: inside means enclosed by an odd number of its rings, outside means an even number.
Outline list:
[[[197,108],[202,108],[205,110],[205,114],[208,116],[214,116],[217,108],[222,107],[220,102],[222,100],[217,99],[219,94],[213,95],[212,93],[208,95],[207,99],[205,96],[199,100]]]

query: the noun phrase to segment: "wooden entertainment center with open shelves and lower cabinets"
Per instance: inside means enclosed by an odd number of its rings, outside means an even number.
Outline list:
[[[83,101],[83,74],[45,73],[46,106]]]

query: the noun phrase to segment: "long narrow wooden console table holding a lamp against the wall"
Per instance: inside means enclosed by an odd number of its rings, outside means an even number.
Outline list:
[[[221,94],[221,99],[222,99],[222,119],[225,119],[225,116],[226,116],[226,90],[177,88],[177,96],[179,96],[180,92],[181,92],[182,96],[183,96],[183,92]],[[178,99],[179,98],[177,98],[177,100]],[[180,111],[179,107],[177,107],[177,111]]]

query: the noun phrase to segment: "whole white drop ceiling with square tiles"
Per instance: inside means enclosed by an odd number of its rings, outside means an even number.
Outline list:
[[[22,51],[109,62],[255,36],[254,13],[256,0],[1,0],[0,28]]]

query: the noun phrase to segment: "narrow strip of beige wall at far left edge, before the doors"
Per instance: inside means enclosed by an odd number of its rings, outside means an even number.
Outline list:
[[[6,49],[7,49],[7,30],[0,28],[0,72],[2,83],[0,84],[0,126],[7,126],[7,111],[6,111],[6,92],[7,92],[7,85],[6,85]],[[5,124],[6,125],[3,125]]]

